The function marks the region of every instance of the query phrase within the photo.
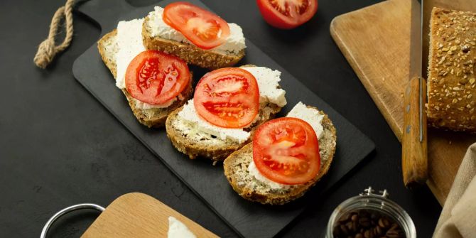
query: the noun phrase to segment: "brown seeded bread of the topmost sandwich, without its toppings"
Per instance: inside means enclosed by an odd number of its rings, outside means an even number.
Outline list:
[[[239,53],[222,53],[213,50],[204,50],[196,45],[181,43],[152,36],[149,18],[146,16],[142,25],[142,39],[148,50],[161,50],[175,55],[191,65],[198,65],[211,70],[221,67],[232,67],[244,57],[244,50]]]

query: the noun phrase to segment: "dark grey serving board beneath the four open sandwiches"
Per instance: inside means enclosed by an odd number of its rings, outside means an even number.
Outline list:
[[[170,2],[172,1],[161,1],[156,5],[165,6]],[[206,8],[198,0],[190,2]],[[134,8],[125,1],[92,0],[82,4],[79,11],[99,23],[104,35],[115,28],[119,20],[146,16],[146,13],[153,11],[153,6]],[[281,115],[302,101],[327,112],[337,128],[337,151],[328,175],[325,175],[325,178],[304,198],[288,205],[271,207],[242,199],[228,184],[221,164],[212,166],[211,162],[205,159],[192,161],[173,148],[165,129],[148,129],[139,124],[129,109],[124,95],[114,85],[114,78],[102,63],[96,44],[75,60],[72,71],[75,78],[109,112],[158,158],[161,158],[163,163],[183,180],[183,183],[205,200],[207,205],[236,232],[243,237],[273,237],[302,212],[309,200],[323,195],[325,190],[337,183],[373,151],[374,143],[249,40],[247,40],[247,56],[238,65],[245,64],[262,65],[282,72],[281,86],[286,90],[288,105],[283,108]],[[196,67],[192,67],[191,70],[194,72],[195,82],[205,73],[205,70]]]

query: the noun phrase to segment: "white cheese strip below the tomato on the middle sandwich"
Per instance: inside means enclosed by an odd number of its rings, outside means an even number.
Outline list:
[[[239,144],[241,144],[247,141],[250,136],[250,133],[248,131],[244,131],[243,129],[223,128],[212,125],[208,121],[201,119],[195,110],[193,99],[188,100],[187,104],[183,106],[183,109],[178,112],[178,117],[196,124],[200,131],[217,136],[217,138],[222,140],[231,139],[232,141],[237,141]]]

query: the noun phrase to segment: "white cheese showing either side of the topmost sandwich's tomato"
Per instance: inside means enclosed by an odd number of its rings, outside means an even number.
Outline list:
[[[163,8],[160,6],[154,7],[154,11],[148,13],[148,18],[150,21],[149,27],[151,28],[151,36],[159,37],[167,40],[175,40],[180,43],[187,43],[192,45],[182,33],[176,31],[171,26],[168,26],[162,19]],[[242,28],[235,23],[228,23],[229,26],[229,36],[225,43],[217,46],[216,48],[211,49],[212,51],[218,53],[234,53],[237,54],[239,51],[247,47],[245,44]]]

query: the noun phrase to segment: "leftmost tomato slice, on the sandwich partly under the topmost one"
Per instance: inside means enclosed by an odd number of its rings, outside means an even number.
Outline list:
[[[135,99],[148,104],[164,104],[188,86],[190,71],[180,58],[146,50],[129,63],[125,80],[127,92]]]

